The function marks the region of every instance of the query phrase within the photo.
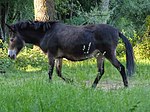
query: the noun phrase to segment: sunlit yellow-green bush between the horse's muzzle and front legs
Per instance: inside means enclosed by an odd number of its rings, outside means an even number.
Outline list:
[[[27,70],[28,67],[47,69],[48,59],[39,49],[25,47],[15,60],[15,66],[20,70]]]

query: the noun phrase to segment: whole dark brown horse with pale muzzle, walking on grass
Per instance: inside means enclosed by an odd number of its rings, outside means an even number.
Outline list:
[[[7,24],[6,24],[7,25]],[[104,74],[104,59],[107,58],[120,72],[124,86],[128,86],[125,67],[116,58],[119,37],[126,47],[127,74],[134,73],[133,49],[129,40],[116,28],[107,24],[71,26],[60,22],[25,21],[7,25],[10,29],[8,56],[15,59],[25,43],[39,46],[49,59],[49,79],[53,68],[62,76],[62,59],[82,61],[97,59],[98,74],[92,87],[96,87]]]

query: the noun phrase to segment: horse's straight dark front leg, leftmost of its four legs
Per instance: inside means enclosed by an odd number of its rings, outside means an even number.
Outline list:
[[[49,76],[49,80],[51,80],[52,74],[53,74],[53,69],[54,69],[54,64],[55,64],[55,59],[51,53],[48,53],[48,61],[49,61],[48,76]]]

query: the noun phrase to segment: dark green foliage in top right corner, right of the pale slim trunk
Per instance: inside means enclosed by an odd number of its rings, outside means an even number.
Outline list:
[[[150,13],[149,0],[113,1],[112,7],[116,5],[117,8],[114,10],[112,18],[117,21],[118,19],[125,17],[127,20],[132,21],[136,27],[143,25],[147,14]]]

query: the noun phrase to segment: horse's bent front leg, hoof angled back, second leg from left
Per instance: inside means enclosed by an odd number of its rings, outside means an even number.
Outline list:
[[[55,61],[56,61],[56,72],[57,72],[58,76],[60,78],[62,78],[64,81],[71,82],[69,79],[64,78],[62,76],[62,73],[61,73],[61,70],[62,70],[62,58],[56,59]]]

